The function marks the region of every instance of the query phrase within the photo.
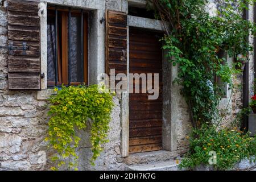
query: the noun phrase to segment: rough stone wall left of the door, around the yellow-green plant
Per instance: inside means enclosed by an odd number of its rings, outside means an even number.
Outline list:
[[[7,1],[0,1],[0,44],[7,46]],[[44,138],[47,134],[47,101],[37,100],[35,91],[9,91],[7,89],[7,51],[0,49],[0,170],[46,170],[52,167]],[[79,169],[124,169],[120,149],[120,106],[115,107],[110,123],[109,140],[96,161],[89,164],[89,134],[81,136]],[[46,158],[46,163],[44,163]]]

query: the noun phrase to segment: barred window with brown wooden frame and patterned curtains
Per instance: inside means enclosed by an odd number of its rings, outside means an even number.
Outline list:
[[[69,24],[71,24],[69,28]],[[88,15],[82,10],[48,9],[47,85],[88,84]]]

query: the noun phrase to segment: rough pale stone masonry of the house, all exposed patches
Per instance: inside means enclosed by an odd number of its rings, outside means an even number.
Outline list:
[[[128,3],[126,0],[106,0],[104,6],[99,7],[98,1],[90,0],[88,3],[81,3],[82,0],[49,0],[44,2],[74,6],[89,7],[90,9],[112,9],[118,11],[127,11]],[[144,3],[143,0],[132,0],[133,3]],[[215,1],[214,1],[215,2]],[[213,3],[214,3],[213,2]],[[217,1],[216,1],[217,2]],[[101,2],[102,3],[102,2]],[[212,5],[210,6],[212,7]],[[101,18],[101,17],[97,17]],[[144,23],[142,21],[142,23]],[[103,25],[102,25],[103,26]],[[104,35],[104,28],[98,29],[95,36]],[[100,44],[100,42],[98,43]],[[103,43],[104,44],[104,43]],[[0,46],[7,46],[7,0],[0,1]],[[97,45],[96,45],[97,46]],[[97,47],[94,47],[97,49]],[[94,56],[97,56],[94,55]],[[251,57],[252,60],[252,57]],[[104,59],[100,60],[104,63]],[[102,68],[100,68],[102,69]],[[253,77],[253,67],[250,68],[250,77]],[[104,70],[104,68],[103,68]],[[53,151],[49,150],[44,138],[47,134],[47,111],[48,105],[46,100],[38,100],[36,91],[10,91],[7,88],[7,51],[0,49],[0,170],[47,170],[52,166],[49,157]],[[95,78],[94,78],[95,79]],[[234,78],[237,84],[241,84],[242,78]],[[253,80],[250,78],[250,80]],[[177,88],[176,88],[177,89]],[[177,89],[179,92],[179,89]],[[176,110],[175,139],[177,141],[177,151],[184,154],[188,149],[187,135],[191,129],[189,123],[187,105],[183,98],[178,95],[174,96],[179,109]],[[236,117],[237,112],[241,109],[241,89],[232,93],[232,101],[229,107],[229,117],[225,118],[226,123]],[[171,99],[171,98],[170,98]],[[223,107],[227,104],[228,98],[222,103]],[[169,100],[168,100],[169,102]],[[170,100],[171,102],[171,100]],[[97,170],[124,170],[125,163],[121,154],[121,97],[114,97],[115,107],[112,111],[112,121],[110,123],[109,140],[105,144],[104,151],[96,161],[96,166],[90,166],[90,144],[88,131],[81,132],[81,145],[77,151],[79,159],[79,169],[97,169]],[[45,160],[46,159],[46,160]],[[159,158],[159,160],[161,160]]]

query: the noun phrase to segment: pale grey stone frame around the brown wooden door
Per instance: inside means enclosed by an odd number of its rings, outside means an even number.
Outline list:
[[[141,18],[137,16],[127,16],[127,74],[129,73],[129,29],[130,27],[144,28],[145,30],[150,31],[160,31],[164,32],[164,26],[160,20]],[[164,54],[164,52],[163,52]],[[171,92],[168,90],[170,94],[168,94],[168,102],[166,108],[169,110],[168,116],[163,113],[163,119],[167,121],[163,121],[163,150],[167,151],[176,151],[177,150],[177,122],[179,122],[179,118],[177,118],[177,111],[179,111],[179,99],[182,99],[180,95],[179,89],[175,88],[172,84],[174,78],[177,76],[177,67],[173,67],[172,64],[164,64],[167,63],[166,57],[163,56],[163,72],[164,70],[171,70],[168,72],[168,82],[170,82]],[[164,75],[163,75],[164,79]],[[129,77],[127,78],[127,90],[129,90]],[[175,88],[175,89],[173,89]],[[174,100],[171,98],[176,97]],[[163,93],[164,97],[164,93]],[[164,98],[163,98],[164,99]],[[121,149],[122,149],[122,157],[129,156],[129,93],[123,92],[121,96],[121,125],[122,125],[122,137],[121,137]],[[183,109],[183,108],[182,108]],[[164,109],[163,109],[164,110]],[[164,118],[167,117],[167,118]],[[166,125],[164,125],[166,123]]]

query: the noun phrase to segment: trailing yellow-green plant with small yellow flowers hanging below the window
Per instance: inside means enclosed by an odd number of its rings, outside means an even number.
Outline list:
[[[90,143],[92,144],[93,156],[91,163],[100,156],[102,144],[106,139],[110,113],[114,106],[112,94],[99,93],[97,85],[86,86],[62,86],[60,90],[55,88],[57,94],[51,96],[49,101],[49,145],[57,154],[52,160],[59,160],[59,167],[65,164],[65,159],[72,159],[68,165],[71,169],[77,169],[76,148],[80,138],[76,131],[85,129],[90,123]],[[54,167],[52,169],[55,169]]]

